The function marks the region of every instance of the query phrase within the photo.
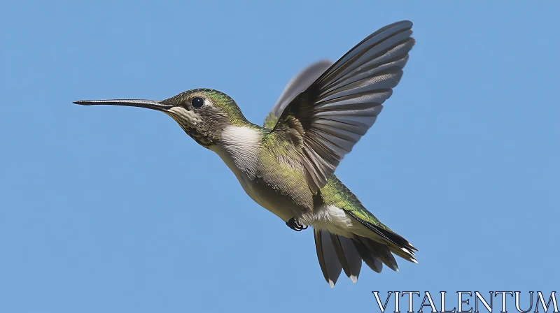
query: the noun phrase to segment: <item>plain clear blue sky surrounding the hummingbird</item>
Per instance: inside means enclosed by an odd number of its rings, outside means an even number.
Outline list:
[[[79,2],[0,5],[0,312],[378,312],[371,291],[558,289],[560,2]],[[404,78],[337,175],[419,264],[357,284],[330,289],[311,231],[169,117],[71,103],[210,87],[260,124],[293,74],[398,20],[417,40]]]

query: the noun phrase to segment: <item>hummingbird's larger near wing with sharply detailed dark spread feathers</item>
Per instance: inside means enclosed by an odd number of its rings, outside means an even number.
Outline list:
[[[293,97],[283,110],[273,131],[297,131],[296,142],[302,147],[301,161],[312,191],[326,184],[344,155],[377,119],[381,103],[391,96],[402,77],[414,45],[411,35],[409,21],[375,31]],[[290,85],[287,89],[297,90]]]

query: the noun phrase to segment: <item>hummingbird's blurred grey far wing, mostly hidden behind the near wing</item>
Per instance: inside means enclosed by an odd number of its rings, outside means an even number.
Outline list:
[[[331,61],[323,60],[315,62],[304,68],[303,71],[297,73],[289,82],[286,87],[284,87],[282,94],[280,94],[276,103],[272,107],[272,110],[268,113],[265,118],[265,126],[267,129],[273,129],[283,110],[293,101],[293,99],[302,92],[305,91],[322,73],[325,73],[327,68],[332,64]]]

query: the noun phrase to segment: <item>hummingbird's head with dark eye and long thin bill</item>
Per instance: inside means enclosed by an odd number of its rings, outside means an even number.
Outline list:
[[[227,126],[249,124],[237,103],[214,89],[191,89],[162,101],[119,99],[80,100],[80,105],[123,105],[162,111],[172,117],[197,143],[209,148],[220,141]]]

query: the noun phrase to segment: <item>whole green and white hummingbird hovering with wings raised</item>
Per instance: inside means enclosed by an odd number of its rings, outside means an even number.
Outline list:
[[[335,169],[374,124],[402,78],[414,46],[412,22],[375,31],[338,61],[317,61],[283,89],[262,126],[214,89],[169,99],[80,100],[164,112],[199,145],[218,154],[253,201],[294,231],[313,228],[318,263],[330,287],[344,274],[356,282],[362,262],[375,272],[414,263],[410,242],[366,210]]]

